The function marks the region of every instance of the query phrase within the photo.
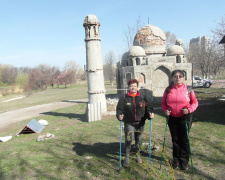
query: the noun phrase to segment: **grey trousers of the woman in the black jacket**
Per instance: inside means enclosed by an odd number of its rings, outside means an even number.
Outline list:
[[[135,146],[138,148],[137,152],[139,151],[142,144],[141,137],[143,131],[144,124],[142,122],[124,123],[126,157],[129,157],[130,155],[133,138],[135,138]]]

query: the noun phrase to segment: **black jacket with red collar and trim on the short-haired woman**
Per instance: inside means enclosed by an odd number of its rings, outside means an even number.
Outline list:
[[[149,118],[149,113],[153,111],[152,105],[148,98],[140,95],[139,91],[133,98],[128,92],[119,99],[116,107],[116,117],[119,120],[119,115],[124,115],[124,122],[145,121]]]

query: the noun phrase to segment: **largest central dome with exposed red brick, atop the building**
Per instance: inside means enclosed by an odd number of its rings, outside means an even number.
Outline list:
[[[146,54],[165,54],[166,36],[160,28],[148,24],[137,32],[133,45],[141,46]]]

